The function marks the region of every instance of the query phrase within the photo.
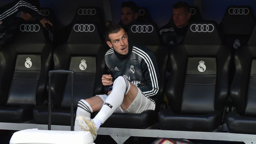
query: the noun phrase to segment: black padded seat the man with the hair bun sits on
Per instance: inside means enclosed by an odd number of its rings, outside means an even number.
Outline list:
[[[137,30],[139,31],[136,31],[135,27],[138,27]],[[144,27],[144,30],[142,30],[141,27]],[[146,27],[149,27],[148,31],[146,30]],[[142,113],[113,113],[107,121],[104,122],[102,127],[145,129],[157,122],[157,111],[159,111],[158,103],[163,101],[168,53],[166,52],[166,47],[161,45],[158,29],[154,23],[137,22],[132,24],[127,35],[132,43],[144,45],[156,54],[158,69],[160,71],[160,80],[158,80],[159,91],[156,96],[151,97],[156,101],[156,110],[146,110]],[[141,39],[142,37],[143,39]],[[93,113],[93,116],[96,114],[97,113]]]

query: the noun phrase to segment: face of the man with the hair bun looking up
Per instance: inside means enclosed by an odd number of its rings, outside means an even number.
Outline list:
[[[117,33],[109,34],[111,42],[107,41],[109,47],[113,48],[117,53],[126,55],[128,53],[128,37],[124,29],[120,29]]]

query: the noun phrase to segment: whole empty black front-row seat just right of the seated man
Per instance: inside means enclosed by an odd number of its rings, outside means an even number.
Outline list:
[[[210,132],[222,124],[230,57],[216,22],[190,24],[183,44],[170,53],[166,94],[171,109],[158,113],[161,129]]]

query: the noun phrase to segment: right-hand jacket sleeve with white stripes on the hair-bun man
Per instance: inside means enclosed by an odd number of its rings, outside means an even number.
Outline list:
[[[151,51],[147,52],[146,58],[141,63],[141,69],[148,86],[141,87],[140,90],[146,96],[156,95],[159,90],[159,71],[156,57]]]

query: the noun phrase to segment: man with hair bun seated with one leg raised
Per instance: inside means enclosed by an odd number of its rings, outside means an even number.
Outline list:
[[[97,131],[112,113],[141,113],[155,110],[159,72],[155,55],[146,47],[128,40],[120,25],[107,23],[105,54],[109,74],[102,75],[107,95],[96,95],[78,102],[74,130],[90,131],[94,140]],[[112,87],[112,90],[111,90]],[[92,112],[99,112],[90,119]]]

